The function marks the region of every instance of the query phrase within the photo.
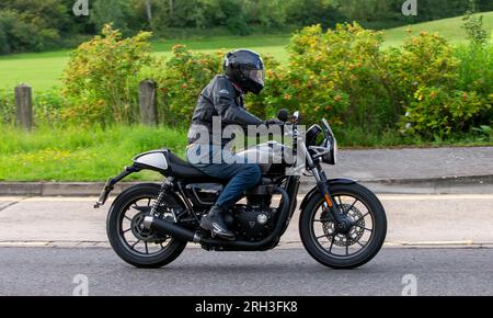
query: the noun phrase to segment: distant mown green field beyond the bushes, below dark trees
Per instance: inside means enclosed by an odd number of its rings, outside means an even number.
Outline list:
[[[493,12],[482,13],[484,26],[491,33],[493,30]],[[451,43],[466,41],[461,29],[460,16],[415,24],[411,26],[414,34],[420,31],[438,32]],[[386,46],[399,46],[406,34],[408,26],[391,29],[386,32]],[[193,39],[168,39],[153,43],[159,56],[170,56],[174,44],[185,44],[191,49],[211,52],[217,49],[232,49],[249,47],[261,54],[272,54],[280,61],[286,61],[288,55],[286,45],[289,43],[288,34],[252,35],[252,36],[216,36]],[[20,82],[26,82],[34,91],[45,91],[60,86],[60,77],[68,61],[68,50],[48,52],[38,54],[18,54],[0,57],[0,90],[11,90]]]

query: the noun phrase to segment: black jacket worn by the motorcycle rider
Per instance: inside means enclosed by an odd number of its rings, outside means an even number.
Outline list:
[[[188,129],[188,144],[203,143],[204,139],[199,138],[199,135],[200,132],[204,132],[204,126],[207,127],[209,138],[211,138],[214,116],[220,117],[222,129],[228,124],[246,128],[248,125],[261,125],[263,123],[245,110],[243,93],[232,84],[226,75],[216,76],[198,96],[192,125]],[[231,140],[221,138],[219,141],[216,140],[219,136],[214,137],[215,144],[220,143],[220,145],[226,145]]]

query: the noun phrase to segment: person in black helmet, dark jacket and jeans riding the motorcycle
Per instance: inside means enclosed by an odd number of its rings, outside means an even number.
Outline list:
[[[197,105],[188,130],[186,156],[198,170],[216,179],[230,180],[209,213],[200,220],[200,227],[213,236],[234,239],[225,223],[227,208],[234,204],[243,192],[261,181],[257,163],[240,162],[231,152],[231,138],[213,135],[214,117],[220,117],[225,125],[236,124],[245,129],[249,125],[280,124],[277,120],[263,122],[249,113],[244,106],[243,94],[259,94],[265,84],[265,70],[261,56],[250,49],[232,50],[226,55],[223,75],[216,76],[198,96]],[[205,128],[204,128],[205,127]],[[208,134],[200,137],[200,132]],[[199,160],[197,160],[199,158]],[[227,162],[225,162],[227,161]],[[231,163],[233,162],[233,163]]]

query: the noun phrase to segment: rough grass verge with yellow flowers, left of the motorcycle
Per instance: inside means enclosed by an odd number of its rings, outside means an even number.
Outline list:
[[[167,127],[38,128],[34,133],[0,127],[0,181],[105,181],[144,151],[170,148],[183,156],[186,141],[183,130]],[[140,172],[128,180],[160,178]]]

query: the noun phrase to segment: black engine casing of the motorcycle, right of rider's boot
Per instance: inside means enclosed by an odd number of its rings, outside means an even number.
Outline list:
[[[248,196],[246,205],[236,205],[232,211],[232,229],[243,240],[259,241],[267,237],[275,227],[277,209],[271,207],[271,197]]]

